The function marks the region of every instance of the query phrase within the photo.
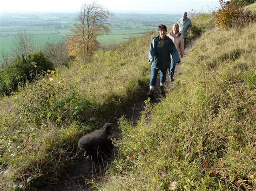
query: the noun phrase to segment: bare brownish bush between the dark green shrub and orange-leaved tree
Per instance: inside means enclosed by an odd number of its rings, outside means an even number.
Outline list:
[[[55,66],[68,66],[70,57],[65,42],[62,41],[57,44],[46,43],[44,53],[49,56]]]

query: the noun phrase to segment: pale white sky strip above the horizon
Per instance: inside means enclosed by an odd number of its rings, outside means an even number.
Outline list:
[[[0,12],[78,12],[86,0],[1,0]],[[182,13],[210,12],[219,6],[218,0],[98,0],[111,12]]]

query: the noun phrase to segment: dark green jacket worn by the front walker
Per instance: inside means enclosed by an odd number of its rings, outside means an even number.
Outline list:
[[[156,69],[170,68],[171,56],[174,63],[179,63],[180,58],[175,45],[169,37],[164,38],[164,45],[161,48],[160,37],[157,36],[152,40],[149,48],[149,61],[150,65]]]

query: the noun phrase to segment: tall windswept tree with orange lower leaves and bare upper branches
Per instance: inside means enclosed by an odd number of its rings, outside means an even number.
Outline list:
[[[109,32],[109,24],[106,23],[109,15],[109,11],[96,2],[82,5],[67,40],[70,56],[85,60],[96,51],[97,37]]]

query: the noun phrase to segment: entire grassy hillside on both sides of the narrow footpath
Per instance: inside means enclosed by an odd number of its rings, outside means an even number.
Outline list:
[[[147,54],[156,33],[99,50],[86,63],[51,71],[2,97],[2,188],[40,187],[76,153],[80,136],[118,120],[120,155],[99,187],[252,188],[254,33],[255,25],[206,32],[187,55],[176,87],[156,108],[148,103],[135,128],[121,116],[149,88]]]

